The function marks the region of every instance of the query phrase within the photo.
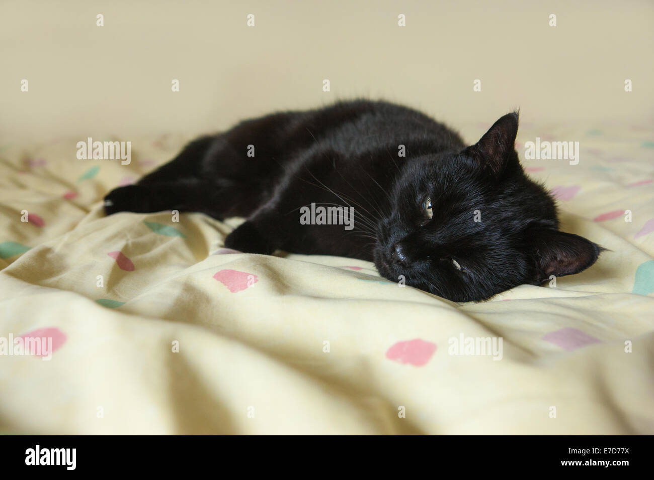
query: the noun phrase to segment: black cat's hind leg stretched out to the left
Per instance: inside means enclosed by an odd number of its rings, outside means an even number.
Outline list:
[[[112,190],[105,197],[105,212],[179,210],[218,219],[249,216],[269,198],[288,161],[279,150],[277,132],[292,118],[293,114],[275,114],[194,140],[137,184]]]

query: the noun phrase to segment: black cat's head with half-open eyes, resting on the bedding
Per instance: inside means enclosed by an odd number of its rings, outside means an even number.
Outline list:
[[[383,276],[466,302],[596,261],[601,247],[558,231],[553,199],[519,163],[517,130],[518,114],[508,114],[462,152],[407,165],[377,230]]]

